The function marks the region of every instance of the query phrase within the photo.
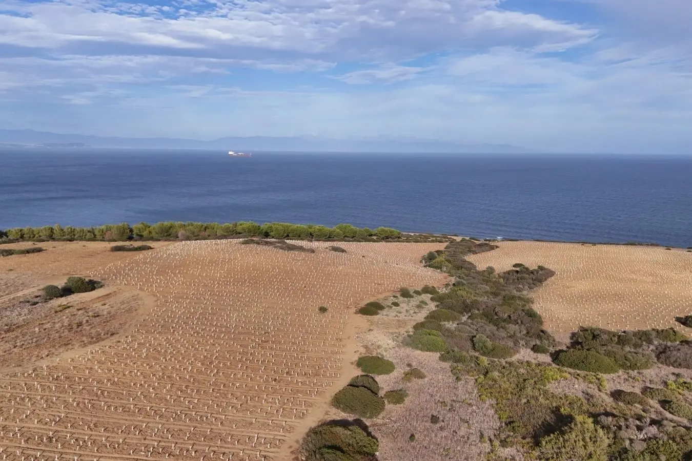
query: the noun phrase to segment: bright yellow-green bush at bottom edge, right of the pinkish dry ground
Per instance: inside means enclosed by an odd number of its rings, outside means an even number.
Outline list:
[[[540,439],[538,453],[545,461],[606,461],[610,436],[588,417],[577,416],[562,431]]]

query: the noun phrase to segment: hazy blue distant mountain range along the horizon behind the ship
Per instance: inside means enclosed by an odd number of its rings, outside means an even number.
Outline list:
[[[302,152],[430,152],[430,153],[536,153],[507,144],[461,144],[438,140],[337,140],[318,137],[274,138],[251,136],[201,141],[178,138],[116,138],[49,133],[34,130],[2,130],[0,144],[14,147],[111,147],[124,149],[205,149],[233,151]]]

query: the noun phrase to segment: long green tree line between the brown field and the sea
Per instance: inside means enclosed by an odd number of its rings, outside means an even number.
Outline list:
[[[290,223],[264,223],[240,221],[237,223],[180,223],[163,221],[135,225],[108,224],[98,227],[62,227],[60,224],[43,227],[16,227],[0,230],[0,238],[13,241],[77,240],[77,241],[129,241],[129,240],[197,240],[204,238],[291,238],[293,240],[352,240],[378,241],[401,237],[401,232],[390,227],[355,227],[340,224],[334,227]]]

